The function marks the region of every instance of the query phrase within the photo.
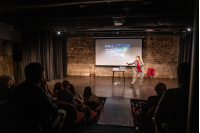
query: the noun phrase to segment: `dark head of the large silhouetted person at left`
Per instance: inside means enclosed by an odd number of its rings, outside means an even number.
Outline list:
[[[30,63],[25,67],[25,77],[28,82],[41,82],[44,80],[44,68],[40,63]]]

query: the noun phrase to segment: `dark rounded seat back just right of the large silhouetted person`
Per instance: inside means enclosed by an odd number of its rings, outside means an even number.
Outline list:
[[[66,102],[56,102],[59,109],[64,109],[67,111],[66,122],[73,122],[77,119],[77,109],[74,105]]]

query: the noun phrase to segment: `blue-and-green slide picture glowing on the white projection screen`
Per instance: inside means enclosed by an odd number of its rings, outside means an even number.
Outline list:
[[[110,59],[129,59],[130,44],[105,45],[105,54]]]

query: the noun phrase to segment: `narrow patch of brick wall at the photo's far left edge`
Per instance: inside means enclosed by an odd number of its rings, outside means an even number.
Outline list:
[[[13,70],[13,56],[3,55],[3,45],[2,40],[0,40],[0,76],[4,74],[9,74],[14,76]]]

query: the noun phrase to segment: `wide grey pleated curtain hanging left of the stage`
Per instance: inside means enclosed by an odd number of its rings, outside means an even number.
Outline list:
[[[45,69],[45,78],[51,81],[63,78],[66,69],[66,37],[53,34],[51,30],[23,30],[22,43],[14,45],[15,80],[25,80],[24,68],[31,62],[41,63]],[[21,59],[17,53],[21,51]],[[66,56],[65,56],[66,57]],[[66,74],[64,75],[66,76]]]

